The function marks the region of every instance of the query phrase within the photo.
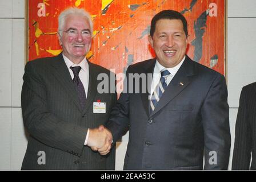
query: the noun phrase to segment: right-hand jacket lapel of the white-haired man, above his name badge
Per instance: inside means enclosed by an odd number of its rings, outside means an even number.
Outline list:
[[[91,106],[93,103],[94,97],[97,93],[97,85],[98,85],[98,80],[97,80],[97,72],[95,72],[94,65],[91,64],[88,61],[89,64],[89,87],[88,87],[88,92],[86,96],[86,101],[85,101],[85,108],[83,109],[83,113],[86,113],[88,108]]]

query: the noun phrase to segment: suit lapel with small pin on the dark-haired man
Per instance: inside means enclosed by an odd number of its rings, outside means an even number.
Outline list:
[[[176,75],[173,77],[173,80],[171,80],[170,84],[167,86],[165,92],[163,93],[157,106],[155,107],[153,113],[150,114],[150,116],[157,113],[171,100],[173,100],[174,97],[181,93],[182,90],[190,84],[190,76],[193,75],[195,75],[194,64],[192,60],[190,60],[190,58],[186,56],[185,61],[181,65],[181,68],[179,68],[179,71],[176,73]]]

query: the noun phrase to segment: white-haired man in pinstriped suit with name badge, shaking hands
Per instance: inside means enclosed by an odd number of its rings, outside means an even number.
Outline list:
[[[98,126],[117,100],[115,85],[108,93],[97,90],[98,75],[114,73],[87,61],[92,32],[85,10],[67,9],[59,15],[63,52],[26,64],[21,99],[30,136],[22,169],[115,168],[115,148],[105,156],[90,148],[109,152],[112,139]]]

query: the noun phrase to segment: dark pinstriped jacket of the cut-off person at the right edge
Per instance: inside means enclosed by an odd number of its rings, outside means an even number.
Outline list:
[[[252,157],[252,161],[251,161]],[[232,169],[256,169],[256,82],[243,87],[237,122]],[[250,167],[251,162],[251,167]]]

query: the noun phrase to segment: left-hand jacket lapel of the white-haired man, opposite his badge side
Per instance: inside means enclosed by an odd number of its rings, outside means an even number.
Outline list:
[[[67,68],[65,61],[63,59],[62,53],[60,53],[53,63],[54,71],[51,72],[58,79],[59,83],[66,89],[66,92],[69,93],[70,97],[74,101],[74,104],[78,107],[80,111],[82,111],[81,106],[78,101],[77,90],[75,90],[75,86],[71,79],[69,69]]]

